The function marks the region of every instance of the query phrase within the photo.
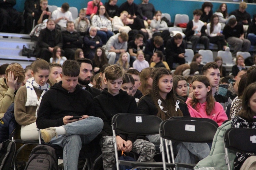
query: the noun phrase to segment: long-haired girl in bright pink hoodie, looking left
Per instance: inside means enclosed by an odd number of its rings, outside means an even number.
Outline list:
[[[228,119],[223,106],[215,102],[210,81],[205,75],[198,75],[192,80],[193,98],[186,103],[191,117],[209,118],[222,125]]]

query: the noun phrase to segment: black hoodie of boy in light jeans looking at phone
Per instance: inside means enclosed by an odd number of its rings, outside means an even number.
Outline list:
[[[65,116],[94,116],[93,97],[88,91],[76,85],[71,93],[61,85],[62,81],[54,84],[44,94],[36,121],[39,129],[62,126]]]

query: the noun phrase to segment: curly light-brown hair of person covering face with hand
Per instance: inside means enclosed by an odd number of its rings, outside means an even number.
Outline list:
[[[16,80],[16,78],[18,78],[18,81],[17,83],[21,83],[24,81],[25,79],[25,71],[23,69],[23,67],[18,64],[18,63],[13,63],[13,64],[10,64],[6,70],[5,70],[5,75],[6,77],[8,77],[8,73],[9,72],[12,72],[13,75],[14,75],[14,80]]]

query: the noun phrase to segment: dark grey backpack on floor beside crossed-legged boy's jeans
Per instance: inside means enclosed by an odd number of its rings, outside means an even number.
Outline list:
[[[55,149],[47,145],[36,146],[29,155],[25,170],[51,169],[58,170],[58,158]]]

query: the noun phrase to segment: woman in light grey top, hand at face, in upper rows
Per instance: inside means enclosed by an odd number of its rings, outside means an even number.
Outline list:
[[[162,12],[161,11],[156,11],[154,19],[152,19],[151,23],[150,23],[150,27],[151,27],[153,37],[155,37],[157,35],[161,36],[161,33],[164,30],[169,29],[168,26],[167,26],[167,23],[165,21],[161,20],[161,19],[162,19]]]

